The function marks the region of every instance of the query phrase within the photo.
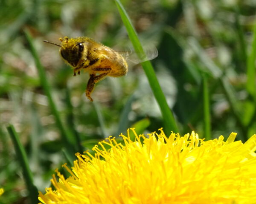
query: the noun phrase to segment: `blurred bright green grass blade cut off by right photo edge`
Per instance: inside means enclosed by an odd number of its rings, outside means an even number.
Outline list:
[[[256,24],[253,28],[253,43],[251,46],[251,51],[247,56],[247,83],[246,88],[248,93],[256,98],[255,94],[255,58],[256,58]]]

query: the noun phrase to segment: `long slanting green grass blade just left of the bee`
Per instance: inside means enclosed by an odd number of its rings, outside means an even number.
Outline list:
[[[32,37],[30,36],[28,31],[24,31],[24,32],[25,32],[26,39],[29,42],[31,54],[32,54],[32,56],[34,57],[34,60],[35,60],[35,65],[36,65],[36,68],[38,70],[41,85],[44,88],[44,92],[47,96],[49,106],[52,110],[52,114],[55,116],[56,125],[57,125],[58,129],[61,132],[61,138],[62,138],[62,141],[64,143],[64,147],[67,149],[67,151],[71,155],[73,155],[76,152],[74,150],[74,146],[73,146],[73,140],[72,140],[73,137],[72,137],[71,133],[64,128],[64,125],[61,122],[60,114],[59,114],[59,112],[56,108],[56,105],[55,105],[55,103],[53,102],[53,99],[52,99],[51,87],[50,87],[49,82],[46,78],[46,74],[45,74],[44,68],[43,68],[43,66],[40,62],[40,59],[38,57],[37,51],[35,50],[34,43],[32,41]],[[72,157],[72,156],[70,156],[70,157]]]

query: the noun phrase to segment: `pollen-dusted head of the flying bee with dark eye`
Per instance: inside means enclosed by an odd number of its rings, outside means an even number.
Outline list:
[[[76,67],[84,53],[84,41],[81,38],[60,38],[60,54],[70,65]]]

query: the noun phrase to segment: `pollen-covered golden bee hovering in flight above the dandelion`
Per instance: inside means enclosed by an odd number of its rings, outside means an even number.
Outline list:
[[[106,76],[121,77],[128,72],[128,65],[122,54],[89,37],[64,37],[59,40],[61,45],[47,40],[44,42],[60,47],[61,57],[73,68],[73,76],[80,74],[81,70],[89,72],[90,79],[85,94],[90,101],[93,101],[90,95],[97,82]],[[157,54],[150,58],[157,57]]]

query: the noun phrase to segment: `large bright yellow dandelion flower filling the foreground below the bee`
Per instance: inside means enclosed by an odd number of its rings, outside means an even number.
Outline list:
[[[58,170],[55,190],[39,193],[44,204],[255,204],[256,135],[244,144],[231,133],[204,141],[163,130],[122,143],[109,137],[77,154],[70,177]],[[109,146],[110,148],[107,148]]]

